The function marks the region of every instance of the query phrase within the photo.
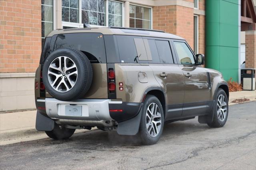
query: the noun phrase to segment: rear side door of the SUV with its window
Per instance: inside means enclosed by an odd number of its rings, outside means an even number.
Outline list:
[[[165,120],[180,117],[184,100],[184,76],[169,39],[144,37],[148,63],[166,98]]]

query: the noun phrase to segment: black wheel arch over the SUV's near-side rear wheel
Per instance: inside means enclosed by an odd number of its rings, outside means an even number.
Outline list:
[[[145,98],[146,98],[147,95],[153,95],[153,96],[156,96],[156,98],[158,98],[158,100],[159,100],[160,103],[162,104],[162,108],[163,108],[163,110],[164,110],[164,117],[165,117],[166,98],[165,98],[164,92],[162,91],[162,88],[160,88],[160,87],[150,87],[150,88],[148,88],[148,89],[144,92],[144,95],[143,95],[143,98],[142,98],[142,102],[144,102],[144,100],[145,100]]]

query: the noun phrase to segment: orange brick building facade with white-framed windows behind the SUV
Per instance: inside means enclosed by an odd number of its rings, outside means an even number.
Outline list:
[[[51,30],[83,27],[83,23],[160,29],[184,37],[195,53],[204,54],[205,3],[205,0],[0,0],[0,111],[35,108],[34,72],[44,37]],[[255,53],[252,55],[255,57]]]

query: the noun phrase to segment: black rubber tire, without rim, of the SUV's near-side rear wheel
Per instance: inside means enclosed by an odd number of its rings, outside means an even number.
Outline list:
[[[160,127],[160,131],[158,132],[156,137],[150,136],[148,129],[146,128],[147,109],[148,109],[148,106],[152,103],[157,104],[160,109],[160,112],[161,112],[161,127]],[[163,129],[164,129],[164,111],[163,111],[160,101],[158,100],[158,98],[156,98],[156,96],[153,96],[153,95],[146,96],[146,99],[143,104],[141,116],[142,117],[140,120],[140,129],[139,129],[139,133],[138,133],[140,140],[143,145],[153,145],[158,142],[158,140],[160,139],[160,137],[162,135]]]

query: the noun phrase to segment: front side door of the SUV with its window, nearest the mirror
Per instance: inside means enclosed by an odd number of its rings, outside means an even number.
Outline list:
[[[204,114],[211,106],[210,84],[205,68],[196,65],[195,56],[186,41],[172,41],[176,59],[184,75],[184,104],[182,116]]]

